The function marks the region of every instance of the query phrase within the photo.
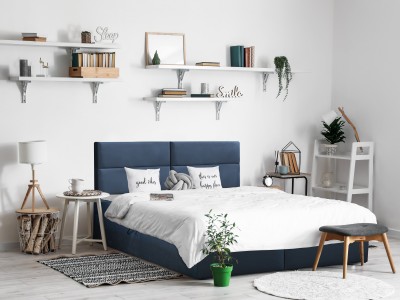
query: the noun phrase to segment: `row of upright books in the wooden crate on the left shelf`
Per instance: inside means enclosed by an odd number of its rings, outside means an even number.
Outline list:
[[[72,53],[72,67],[115,68],[115,52]]]

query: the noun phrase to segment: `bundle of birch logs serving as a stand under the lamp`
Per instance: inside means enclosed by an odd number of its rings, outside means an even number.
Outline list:
[[[21,214],[17,219],[22,252],[40,254],[56,250],[58,213]]]

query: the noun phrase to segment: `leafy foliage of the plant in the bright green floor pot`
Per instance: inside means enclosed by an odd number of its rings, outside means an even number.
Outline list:
[[[205,216],[208,219],[208,225],[203,254],[215,254],[217,262],[225,268],[233,260],[229,246],[237,243],[238,236],[234,233],[236,224],[228,220],[228,214],[213,214],[210,210]]]

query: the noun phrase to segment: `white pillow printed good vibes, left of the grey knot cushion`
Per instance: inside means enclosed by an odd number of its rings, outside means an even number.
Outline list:
[[[129,193],[161,191],[160,169],[125,168],[125,172],[128,179]]]

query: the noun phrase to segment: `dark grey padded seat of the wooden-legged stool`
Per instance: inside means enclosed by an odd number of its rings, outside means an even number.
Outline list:
[[[388,232],[388,228],[383,225],[373,223],[356,223],[338,226],[322,226],[319,231],[326,233],[336,233],[343,236],[370,236]]]

